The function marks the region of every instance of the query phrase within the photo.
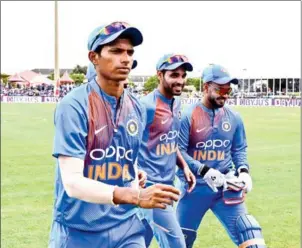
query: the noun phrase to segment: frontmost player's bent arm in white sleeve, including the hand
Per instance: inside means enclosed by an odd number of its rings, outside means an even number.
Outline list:
[[[138,190],[94,181],[83,175],[84,160],[59,156],[63,186],[69,197],[98,204],[133,204],[142,208],[166,208],[178,200],[179,192],[172,186],[153,185]],[[166,187],[168,186],[168,187]]]

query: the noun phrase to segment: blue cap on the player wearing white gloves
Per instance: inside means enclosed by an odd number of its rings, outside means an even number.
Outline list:
[[[202,81],[204,83],[214,82],[216,84],[238,84],[238,79],[230,76],[228,71],[221,65],[210,65],[202,72]]]

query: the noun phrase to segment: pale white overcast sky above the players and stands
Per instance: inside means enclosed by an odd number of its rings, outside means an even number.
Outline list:
[[[300,77],[300,2],[59,2],[59,66],[86,65],[97,26],[127,21],[141,30],[132,75],[153,75],[165,53],[194,66],[209,63],[234,76]],[[1,72],[54,68],[54,2],[1,1]],[[243,69],[246,69],[244,71]]]

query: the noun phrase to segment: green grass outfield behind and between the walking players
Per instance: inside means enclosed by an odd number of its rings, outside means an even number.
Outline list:
[[[1,104],[1,247],[47,247],[53,206],[53,104]],[[269,248],[300,247],[300,108],[237,108],[249,144],[249,211]],[[192,210],[194,211],[194,210]],[[158,247],[154,242],[152,248]],[[196,248],[235,247],[208,212]]]

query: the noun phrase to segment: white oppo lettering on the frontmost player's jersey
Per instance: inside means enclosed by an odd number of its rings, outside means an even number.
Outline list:
[[[90,153],[90,158],[94,160],[102,160],[106,158],[114,158],[116,162],[119,162],[122,159],[126,159],[130,162],[133,161],[133,150],[126,150],[122,146],[109,146],[105,150],[103,149],[93,149]]]

